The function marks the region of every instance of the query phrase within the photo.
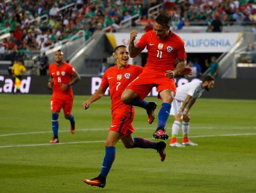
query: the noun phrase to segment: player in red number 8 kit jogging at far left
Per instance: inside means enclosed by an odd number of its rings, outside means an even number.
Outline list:
[[[80,81],[80,76],[71,64],[63,61],[64,54],[61,50],[57,50],[54,59],[55,63],[49,65],[48,79],[48,88],[53,88],[53,96],[51,98],[53,140],[50,143],[59,143],[58,119],[62,108],[65,118],[71,123],[71,133],[74,134],[75,132],[75,118],[71,114],[73,105],[72,85]]]

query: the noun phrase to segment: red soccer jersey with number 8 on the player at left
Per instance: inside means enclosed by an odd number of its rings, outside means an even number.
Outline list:
[[[75,68],[66,62],[62,62],[62,65],[60,66],[57,66],[56,63],[52,63],[49,65],[49,74],[53,77],[53,99],[73,99],[72,86],[66,90],[62,90],[60,87],[62,84],[71,82],[71,79],[75,74]]]

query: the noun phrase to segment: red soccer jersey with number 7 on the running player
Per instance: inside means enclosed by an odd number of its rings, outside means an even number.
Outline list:
[[[127,85],[136,79],[141,72],[143,72],[143,68],[138,65],[128,65],[127,68],[122,68],[122,70],[119,70],[115,65],[104,72],[100,86],[103,88],[109,87],[112,114],[113,112],[124,112],[129,116],[130,113],[134,112],[133,106],[122,103],[121,95]]]

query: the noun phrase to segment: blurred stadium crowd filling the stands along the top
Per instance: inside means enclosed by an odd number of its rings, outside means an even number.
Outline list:
[[[89,39],[95,31],[118,25],[135,14],[139,14],[141,20],[134,25],[145,26],[145,31],[152,30],[156,16],[148,16],[148,10],[159,3],[163,1],[14,0],[0,3],[0,31],[10,29],[7,31],[10,37],[0,40],[0,59],[31,59],[35,52],[45,52],[60,41],[74,37],[79,30],[84,31],[84,39]],[[256,21],[256,8],[250,0],[167,0],[164,7],[172,8],[176,17],[172,26],[178,30],[199,25],[209,26],[207,32],[221,32],[221,26],[253,25]]]

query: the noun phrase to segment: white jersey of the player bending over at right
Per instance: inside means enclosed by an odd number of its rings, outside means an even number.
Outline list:
[[[185,101],[188,94],[193,98],[199,98],[203,94],[203,91],[202,81],[192,81],[177,87],[174,99],[178,101]]]

